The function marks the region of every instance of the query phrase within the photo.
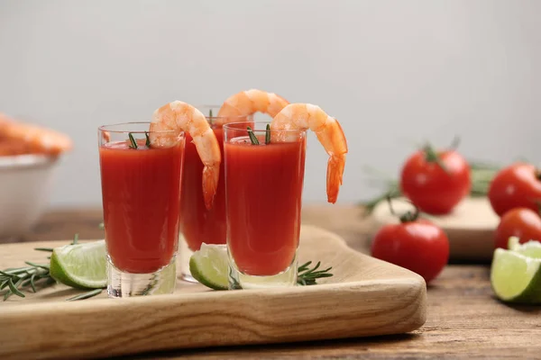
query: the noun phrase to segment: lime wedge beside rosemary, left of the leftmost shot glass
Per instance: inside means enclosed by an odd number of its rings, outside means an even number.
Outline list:
[[[50,275],[79,289],[105,287],[105,240],[55,247],[50,257]]]

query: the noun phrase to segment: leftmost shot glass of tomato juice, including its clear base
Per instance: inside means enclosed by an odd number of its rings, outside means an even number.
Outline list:
[[[98,129],[110,297],[175,288],[185,135],[152,148],[149,128],[130,122]]]

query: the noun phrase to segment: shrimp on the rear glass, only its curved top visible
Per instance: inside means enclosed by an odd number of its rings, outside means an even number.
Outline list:
[[[230,96],[218,111],[218,118],[231,117],[225,122],[234,121],[234,117],[250,116],[255,112],[264,112],[276,116],[289,102],[283,97],[266,91],[251,89]]]

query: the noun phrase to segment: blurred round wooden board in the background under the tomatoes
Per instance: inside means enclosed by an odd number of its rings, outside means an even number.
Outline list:
[[[393,201],[393,209],[398,213],[413,210],[408,202]],[[374,229],[389,223],[398,223],[390,213],[389,204],[380,202],[372,211],[377,223]],[[494,253],[494,230],[500,217],[492,211],[487,198],[466,198],[454,211],[447,215],[426,217],[444,229],[449,238],[450,258],[454,260],[490,261]],[[374,232],[375,233],[375,232]]]

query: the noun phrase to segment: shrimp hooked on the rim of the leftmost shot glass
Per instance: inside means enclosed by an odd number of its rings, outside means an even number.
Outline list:
[[[171,132],[155,132],[174,130]],[[149,139],[151,147],[171,147],[185,131],[192,137],[197,154],[203,162],[203,196],[206,209],[212,202],[220,177],[222,156],[214,131],[208,125],[205,115],[189,103],[174,101],[157,109],[152,115]]]

